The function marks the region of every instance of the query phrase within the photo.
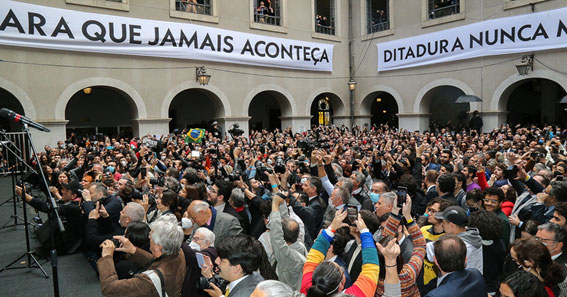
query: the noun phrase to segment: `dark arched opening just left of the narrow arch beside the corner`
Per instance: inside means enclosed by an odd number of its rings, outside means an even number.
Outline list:
[[[258,93],[248,106],[250,130],[282,129],[282,116],[291,115],[291,106],[287,98],[276,91]]]

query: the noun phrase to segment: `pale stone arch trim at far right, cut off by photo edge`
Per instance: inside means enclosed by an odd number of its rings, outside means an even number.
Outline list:
[[[528,75],[519,75],[513,74],[506,78],[496,90],[494,90],[494,94],[492,95],[492,99],[490,102],[490,110],[491,111],[506,111],[508,104],[508,98],[510,92],[513,91],[514,86],[521,83],[522,81],[532,79],[532,78],[542,78],[548,79],[560,85],[564,90],[567,90],[567,77],[565,75],[561,75],[560,73],[556,73],[549,70],[534,70],[530,72]]]

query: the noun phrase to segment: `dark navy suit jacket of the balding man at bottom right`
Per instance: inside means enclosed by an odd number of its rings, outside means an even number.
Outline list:
[[[437,289],[425,297],[486,297],[486,284],[476,269],[465,269],[447,275]]]

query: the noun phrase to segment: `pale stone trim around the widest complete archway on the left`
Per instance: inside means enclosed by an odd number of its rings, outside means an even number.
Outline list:
[[[132,86],[114,78],[90,77],[72,83],[61,93],[55,104],[55,119],[65,120],[65,109],[73,95],[81,89],[93,86],[110,87],[116,89],[116,91],[122,92],[125,95],[124,97],[127,98],[132,107],[134,107],[133,112],[135,118],[145,119],[148,117],[144,100],[142,100],[140,94],[138,94]]]

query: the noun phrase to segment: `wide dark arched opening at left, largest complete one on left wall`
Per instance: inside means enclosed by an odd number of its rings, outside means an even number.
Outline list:
[[[76,92],[65,108],[67,136],[108,135],[132,137],[132,120],[138,118],[130,97],[119,89],[92,86]]]

